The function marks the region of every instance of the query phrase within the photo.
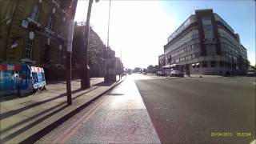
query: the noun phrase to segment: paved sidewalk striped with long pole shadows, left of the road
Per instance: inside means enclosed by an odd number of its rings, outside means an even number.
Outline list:
[[[118,80],[118,78],[117,78]],[[80,90],[80,80],[71,82],[71,106],[66,102],[66,82],[46,85],[46,91],[25,98],[2,101],[1,143],[31,142],[76,114],[108,90],[124,80],[104,83],[103,78],[91,78],[91,87]]]

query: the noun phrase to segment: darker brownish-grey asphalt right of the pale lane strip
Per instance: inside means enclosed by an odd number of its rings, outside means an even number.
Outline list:
[[[255,78],[137,77],[135,83],[162,143],[255,139]]]

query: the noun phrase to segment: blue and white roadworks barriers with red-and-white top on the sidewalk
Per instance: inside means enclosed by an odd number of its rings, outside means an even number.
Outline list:
[[[22,65],[0,65],[1,94],[23,95],[46,86],[44,70],[41,67]]]

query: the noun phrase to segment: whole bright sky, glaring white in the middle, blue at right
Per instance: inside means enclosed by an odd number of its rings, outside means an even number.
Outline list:
[[[92,6],[90,24],[107,42],[108,0],[99,0]],[[78,0],[74,20],[86,21],[88,0]],[[126,68],[158,65],[167,38],[197,9],[213,9],[240,35],[247,56],[255,65],[255,2],[174,1],[174,0],[112,0],[110,9],[109,46],[121,57]]]

